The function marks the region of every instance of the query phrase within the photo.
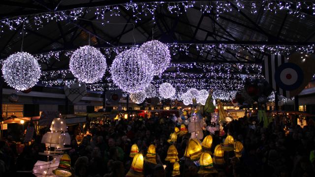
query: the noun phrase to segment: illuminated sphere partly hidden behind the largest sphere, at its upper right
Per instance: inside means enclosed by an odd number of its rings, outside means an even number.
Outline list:
[[[140,50],[147,54],[154,64],[154,75],[159,75],[164,72],[171,61],[171,55],[167,45],[158,40],[152,40],[142,44]]]

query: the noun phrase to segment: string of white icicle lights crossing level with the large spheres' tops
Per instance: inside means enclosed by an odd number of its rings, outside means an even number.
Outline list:
[[[217,53],[225,54],[227,51],[233,52],[236,58],[242,56],[249,56],[250,58],[257,58],[259,53],[267,54],[281,54],[289,56],[293,52],[301,53],[315,53],[315,45],[309,46],[296,46],[296,45],[240,45],[240,44],[188,44],[188,43],[169,43],[167,44],[172,56],[178,55],[183,52],[189,55],[191,51],[197,51],[197,55],[206,56],[208,53],[212,57],[216,57]],[[139,47],[139,45],[127,45],[119,47],[101,47],[98,48],[105,58],[109,59],[112,56],[130,49],[132,47]],[[259,51],[259,52],[258,52]],[[42,63],[50,63],[52,59],[60,61],[61,59],[70,58],[74,50],[69,51],[51,51],[48,53],[34,54],[34,57]],[[3,59],[2,59],[3,60]],[[2,62],[1,60],[1,62]],[[243,59],[244,60],[244,59]],[[246,60],[245,60],[246,61]]]

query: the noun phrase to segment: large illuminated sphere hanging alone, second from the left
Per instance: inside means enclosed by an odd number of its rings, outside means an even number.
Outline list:
[[[90,84],[102,79],[106,67],[105,57],[92,46],[83,46],[74,51],[69,62],[69,68],[74,77]]]

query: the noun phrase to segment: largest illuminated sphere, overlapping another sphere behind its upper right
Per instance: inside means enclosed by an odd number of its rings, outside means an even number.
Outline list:
[[[114,84],[129,93],[147,88],[154,76],[152,71],[152,62],[137,48],[120,53],[110,69]]]

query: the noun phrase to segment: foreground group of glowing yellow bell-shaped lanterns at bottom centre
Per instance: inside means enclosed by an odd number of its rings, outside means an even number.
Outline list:
[[[213,168],[213,163],[218,165],[223,165],[224,162],[224,151],[235,151],[236,157],[242,156],[242,151],[244,149],[243,144],[239,141],[234,141],[234,138],[228,135],[224,143],[221,145],[217,145],[214,154],[210,151],[212,147],[212,136],[208,135],[204,138],[201,145],[198,140],[190,139],[188,146],[185,149],[184,155],[188,157],[192,161],[196,161],[199,159],[200,161],[200,169],[198,171],[199,174],[207,174],[207,173],[217,173],[217,171]],[[211,157],[213,155],[214,158]],[[127,173],[127,177],[142,177],[143,176],[143,163],[147,161],[149,163],[157,164],[156,161],[156,147],[154,145],[150,145],[147,151],[147,154],[143,158],[143,155],[139,153],[139,148],[136,144],[131,146],[130,157],[133,157],[131,168]],[[178,152],[174,145],[169,146],[167,150],[167,156],[165,161],[169,161],[173,164],[173,172],[172,176],[180,175],[180,164],[178,163]]]

